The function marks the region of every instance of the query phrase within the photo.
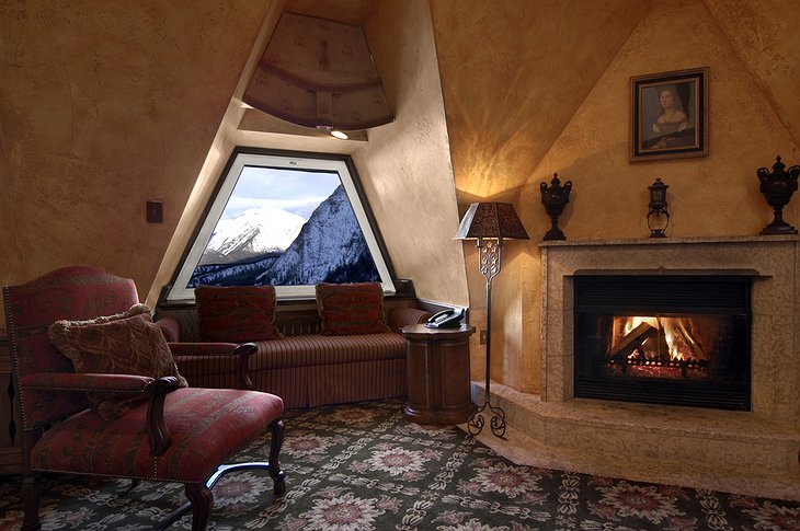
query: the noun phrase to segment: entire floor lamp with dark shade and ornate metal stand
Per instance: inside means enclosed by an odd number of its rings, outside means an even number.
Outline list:
[[[467,428],[473,436],[481,432],[484,413],[492,418],[490,427],[496,437],[505,436],[505,412],[490,403],[489,385],[492,350],[492,280],[500,274],[503,240],[528,240],[519,217],[510,203],[473,203],[458,227],[458,240],[478,240],[478,267],[487,279],[487,388],[483,404],[469,417]]]

